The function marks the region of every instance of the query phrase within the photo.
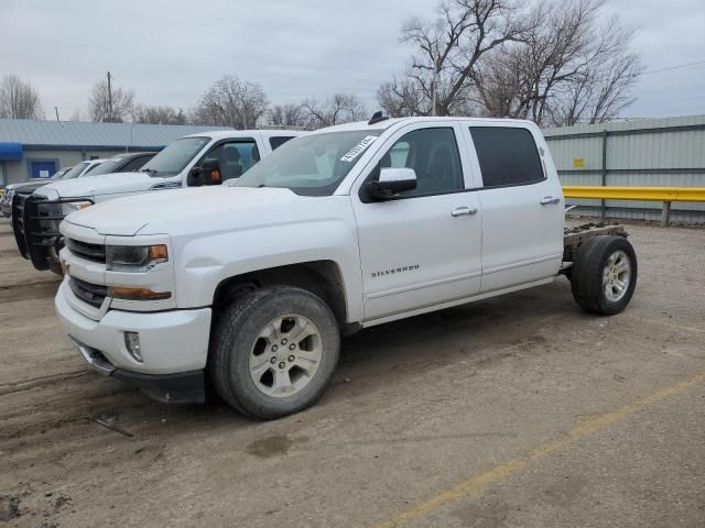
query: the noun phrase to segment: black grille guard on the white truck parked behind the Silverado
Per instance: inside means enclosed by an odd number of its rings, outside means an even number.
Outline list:
[[[61,273],[58,251],[64,239],[58,226],[66,217],[64,204],[89,201],[91,198],[59,198],[47,200],[34,195],[17,194],[12,199],[12,230],[18,249],[36,270]]]

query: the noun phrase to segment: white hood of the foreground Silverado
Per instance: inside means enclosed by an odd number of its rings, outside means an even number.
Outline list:
[[[285,220],[286,211],[305,200],[315,198],[282,188],[217,186],[158,190],[97,204],[72,212],[66,221],[95,229],[99,234],[122,237],[207,232],[232,221],[242,229],[282,216]]]

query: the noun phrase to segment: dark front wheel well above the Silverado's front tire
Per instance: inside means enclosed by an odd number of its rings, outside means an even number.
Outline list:
[[[338,323],[345,326],[347,307],[340,268],[333,261],[314,261],[258,270],[220,282],[213,298],[214,316],[232,299],[263,286],[286,285],[306,289],[326,301]]]

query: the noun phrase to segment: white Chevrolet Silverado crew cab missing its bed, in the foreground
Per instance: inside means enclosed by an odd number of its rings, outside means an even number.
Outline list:
[[[637,280],[622,227],[564,230],[527,121],[376,114],[297,138],[224,188],[90,207],[61,230],[56,310],[88,363],[162,402],[204,402],[210,381],[263,419],[312,405],[358,329],[560,274],[611,315]]]

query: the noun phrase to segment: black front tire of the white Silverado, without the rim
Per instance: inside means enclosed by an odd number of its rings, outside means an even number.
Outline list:
[[[272,320],[292,314],[313,322],[323,352],[317,371],[304,388],[292,396],[272,397],[252,380],[250,355],[261,339],[261,331]],[[269,350],[262,354],[274,354]],[[217,393],[230,406],[251,417],[274,419],[299,413],[321,397],[335,372],[339,353],[337,320],[319,297],[301,288],[270,286],[245,293],[228,306],[212,336],[209,371]],[[278,365],[273,363],[271,369]]]

